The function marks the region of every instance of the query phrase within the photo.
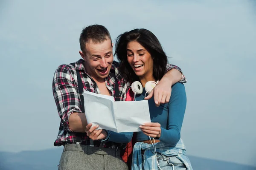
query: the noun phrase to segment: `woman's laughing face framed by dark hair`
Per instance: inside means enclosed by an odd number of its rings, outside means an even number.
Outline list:
[[[152,77],[153,58],[151,54],[137,41],[131,41],[127,44],[127,60],[139,77]]]

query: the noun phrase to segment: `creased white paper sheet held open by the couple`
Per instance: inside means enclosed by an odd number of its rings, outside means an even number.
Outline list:
[[[84,110],[88,123],[114,132],[138,132],[151,122],[148,101],[115,102],[113,96],[84,91]]]

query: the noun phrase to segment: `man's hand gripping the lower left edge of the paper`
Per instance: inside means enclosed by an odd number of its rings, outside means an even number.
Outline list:
[[[92,125],[92,123],[89,123],[86,126],[85,132],[87,133],[87,136],[92,140],[106,139],[106,137],[108,136],[107,132],[103,129],[96,130],[99,127],[99,125],[93,127]]]

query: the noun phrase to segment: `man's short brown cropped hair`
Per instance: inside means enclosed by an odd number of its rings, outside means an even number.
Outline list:
[[[108,29],[101,25],[91,25],[84,28],[80,34],[79,42],[83,53],[85,52],[85,44],[92,40],[94,43],[100,43],[109,38],[111,40]],[[112,41],[112,40],[111,40]]]

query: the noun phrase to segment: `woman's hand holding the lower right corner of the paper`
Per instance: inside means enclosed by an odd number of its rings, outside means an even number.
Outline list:
[[[153,138],[160,138],[161,136],[161,125],[160,123],[144,123],[139,126],[142,132]]]

